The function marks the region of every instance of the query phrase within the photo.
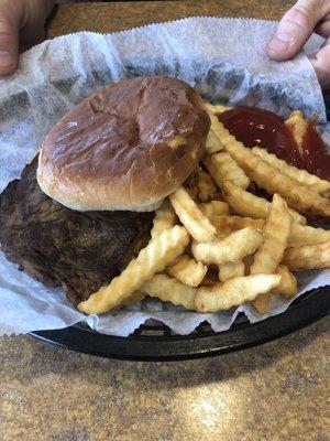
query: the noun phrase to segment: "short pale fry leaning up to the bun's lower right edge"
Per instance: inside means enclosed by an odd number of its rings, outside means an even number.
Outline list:
[[[170,203],[180,222],[197,241],[212,241],[217,238],[217,229],[201,213],[184,187],[169,195]]]

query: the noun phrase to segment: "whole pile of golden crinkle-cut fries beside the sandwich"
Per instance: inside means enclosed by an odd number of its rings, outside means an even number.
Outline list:
[[[250,301],[265,313],[273,295],[297,293],[292,271],[330,267],[330,230],[305,217],[330,217],[330,182],[244,147],[217,118],[228,108],[206,108],[211,129],[200,166],[164,200],[148,245],[81,311],[102,313],[150,295],[198,312]],[[286,125],[301,148],[302,114]],[[253,194],[255,185],[272,202]]]

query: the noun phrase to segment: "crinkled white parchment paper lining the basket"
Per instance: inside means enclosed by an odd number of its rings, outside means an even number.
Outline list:
[[[329,133],[321,90],[307,57],[300,54],[275,63],[265,56],[275,26],[258,20],[193,18],[107,35],[81,32],[33,47],[22,55],[12,77],[0,79],[0,191],[20,175],[43,137],[69,108],[109,83],[139,75],[177,76],[211,101],[262,107],[283,117],[298,108],[307,117],[318,111],[322,130]],[[315,53],[321,43],[314,36],[307,53]],[[329,284],[330,270],[305,273],[299,283],[300,292]],[[264,318],[289,303],[274,297]],[[250,305],[198,314],[154,299],[86,318],[62,289],[44,288],[2,254],[0,311],[0,334],[86,321],[101,333],[125,336],[150,318],[187,334],[205,320],[215,331],[227,330],[240,311],[251,322],[263,319]]]

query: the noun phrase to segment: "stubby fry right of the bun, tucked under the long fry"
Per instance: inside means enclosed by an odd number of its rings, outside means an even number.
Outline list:
[[[250,179],[229,153],[221,152],[205,157],[202,163],[220,187],[223,181],[230,181],[244,190],[248,189]]]

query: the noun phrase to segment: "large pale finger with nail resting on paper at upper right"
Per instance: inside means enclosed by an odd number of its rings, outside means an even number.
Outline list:
[[[274,37],[268,43],[268,56],[273,60],[288,60],[295,56],[329,10],[328,0],[298,0],[280,20]]]

